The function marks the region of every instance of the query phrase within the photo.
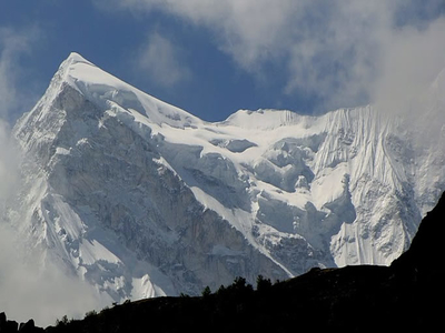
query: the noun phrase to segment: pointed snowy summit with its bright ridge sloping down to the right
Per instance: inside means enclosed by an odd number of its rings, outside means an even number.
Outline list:
[[[137,119],[159,125],[166,123],[176,128],[201,123],[198,118],[140,91],[77,52],[71,52],[60,64],[42,100],[55,100],[67,85],[102,112],[108,110],[126,120]],[[70,95],[70,100],[75,98],[72,93]],[[62,109],[67,108],[70,109],[63,104]]]

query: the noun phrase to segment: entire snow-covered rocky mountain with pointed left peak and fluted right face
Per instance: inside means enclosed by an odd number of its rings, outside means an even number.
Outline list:
[[[72,53],[13,128],[23,184],[6,219],[42,265],[115,301],[389,264],[445,190],[444,95],[443,73],[425,141],[370,105],[209,123]]]

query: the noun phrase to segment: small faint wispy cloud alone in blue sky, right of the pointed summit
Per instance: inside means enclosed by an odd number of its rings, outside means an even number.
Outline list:
[[[137,64],[151,82],[169,88],[190,77],[190,70],[178,56],[181,52],[167,38],[155,32],[141,47]]]

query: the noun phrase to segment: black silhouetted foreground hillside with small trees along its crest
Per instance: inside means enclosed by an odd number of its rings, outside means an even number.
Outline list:
[[[237,279],[202,297],[142,300],[46,331],[444,332],[444,226],[445,194],[389,268],[314,269],[274,285],[261,280],[256,291]]]

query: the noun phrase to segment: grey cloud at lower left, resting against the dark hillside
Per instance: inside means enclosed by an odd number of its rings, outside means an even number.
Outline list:
[[[63,315],[82,317],[86,311],[103,307],[92,286],[43,263],[22,241],[16,230],[0,224],[0,309],[10,319],[32,317],[47,326]]]

